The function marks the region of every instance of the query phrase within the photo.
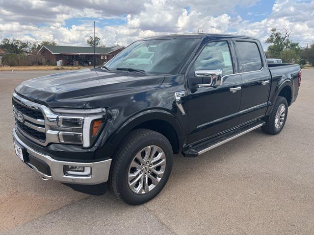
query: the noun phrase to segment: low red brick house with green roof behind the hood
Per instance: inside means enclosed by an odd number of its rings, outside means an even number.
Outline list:
[[[95,64],[102,65],[125,47],[96,47]],[[43,64],[56,65],[62,60],[63,65],[94,65],[94,47],[43,46],[38,51],[43,57]]]

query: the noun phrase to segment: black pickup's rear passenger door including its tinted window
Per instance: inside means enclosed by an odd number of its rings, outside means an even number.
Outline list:
[[[234,45],[242,78],[239,124],[243,124],[265,114],[270,73],[259,41],[235,39]]]

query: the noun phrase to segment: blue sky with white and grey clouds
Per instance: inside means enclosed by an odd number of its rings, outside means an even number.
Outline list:
[[[106,46],[197,29],[263,42],[273,27],[290,29],[301,46],[314,42],[314,0],[0,0],[0,40],[86,46],[94,21]]]

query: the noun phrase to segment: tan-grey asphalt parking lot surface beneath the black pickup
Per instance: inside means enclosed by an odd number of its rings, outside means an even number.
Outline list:
[[[279,135],[258,129],[176,155],[165,188],[141,206],[42,181],[16,157],[12,91],[55,72],[0,72],[0,234],[314,234],[314,70],[302,71]]]

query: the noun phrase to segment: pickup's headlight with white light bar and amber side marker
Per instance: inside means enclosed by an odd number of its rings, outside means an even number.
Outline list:
[[[52,109],[57,113],[56,126],[50,130],[58,132],[60,143],[82,144],[90,147],[105,124],[106,110],[98,109]]]

